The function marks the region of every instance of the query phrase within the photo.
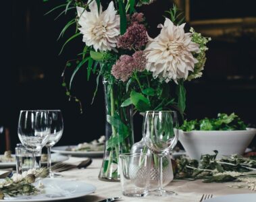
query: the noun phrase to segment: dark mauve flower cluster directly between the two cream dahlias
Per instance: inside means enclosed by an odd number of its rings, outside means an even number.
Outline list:
[[[132,48],[140,49],[149,41],[147,30],[143,24],[134,22],[128,27],[126,33],[118,38],[118,48],[132,50]]]

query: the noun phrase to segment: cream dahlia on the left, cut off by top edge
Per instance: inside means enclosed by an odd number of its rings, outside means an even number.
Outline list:
[[[88,1],[89,3],[90,1]],[[82,41],[95,50],[116,50],[116,43],[120,35],[120,15],[116,15],[113,1],[105,11],[98,10],[96,1],[89,4],[90,11],[76,7],[80,32],[84,35]]]

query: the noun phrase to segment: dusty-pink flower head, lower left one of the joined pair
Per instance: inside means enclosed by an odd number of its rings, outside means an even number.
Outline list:
[[[123,82],[127,81],[134,69],[134,59],[129,55],[122,55],[111,69],[111,74]]]

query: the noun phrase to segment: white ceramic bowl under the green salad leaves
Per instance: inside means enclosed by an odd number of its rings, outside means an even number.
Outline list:
[[[243,131],[189,131],[180,130],[179,140],[186,154],[192,159],[200,160],[202,154],[213,154],[219,151],[217,158],[232,154],[244,154],[253,140],[256,129]]]

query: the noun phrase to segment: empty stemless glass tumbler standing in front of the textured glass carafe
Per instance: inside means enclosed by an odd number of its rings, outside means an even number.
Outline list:
[[[149,193],[150,154],[120,154],[122,193],[127,197],[144,197]]]

